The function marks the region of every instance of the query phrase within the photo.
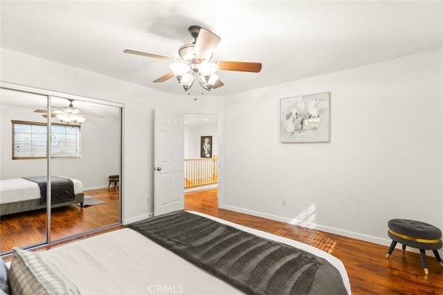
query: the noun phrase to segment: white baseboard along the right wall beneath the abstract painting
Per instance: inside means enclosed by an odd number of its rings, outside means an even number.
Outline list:
[[[276,216],[276,215],[272,215],[272,214],[268,214],[268,213],[262,213],[259,211],[253,211],[253,210],[243,209],[243,208],[239,208],[239,207],[221,205],[220,209],[226,209],[226,210],[230,210],[230,211],[236,211],[239,213],[245,213],[245,214],[258,216],[258,217],[262,217],[262,218],[267,218],[267,219],[271,219],[271,220],[291,223],[293,225],[298,225],[300,227],[309,227],[310,229],[316,229],[318,231],[325,231],[329,234],[336,234],[338,236],[345,236],[347,238],[355,238],[356,240],[364,240],[365,242],[373,242],[374,244],[383,245],[383,246],[387,246],[387,247],[389,247],[390,243],[392,242],[392,240],[390,240],[389,238],[380,238],[377,236],[370,236],[370,235],[366,235],[366,234],[356,233],[354,231],[347,231],[345,229],[336,229],[334,227],[326,227],[324,225],[309,225],[306,222],[294,222],[293,220],[291,220],[291,218]],[[386,231],[388,231],[387,228],[386,228]],[[401,249],[401,245],[397,244],[396,248]],[[419,249],[415,249],[413,247],[407,247],[406,251],[420,253]],[[439,252],[440,252],[440,256],[443,257],[443,255],[442,255],[443,250],[439,250]],[[382,256],[384,256],[384,254],[382,254]],[[432,251],[426,251],[426,256],[433,256]]]

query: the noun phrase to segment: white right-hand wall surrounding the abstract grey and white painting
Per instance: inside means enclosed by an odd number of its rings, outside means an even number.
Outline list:
[[[331,142],[281,144],[280,99],[323,91]],[[441,49],[224,99],[224,208],[305,224],[314,204],[307,225],[383,244],[391,218],[443,228]]]

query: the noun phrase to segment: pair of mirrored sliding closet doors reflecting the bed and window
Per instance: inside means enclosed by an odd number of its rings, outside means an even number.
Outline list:
[[[0,90],[1,253],[120,224],[123,106]]]

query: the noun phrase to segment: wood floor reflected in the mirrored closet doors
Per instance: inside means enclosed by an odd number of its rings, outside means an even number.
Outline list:
[[[119,221],[118,190],[94,189],[84,196],[100,199],[105,204],[79,207],[75,204],[51,211],[51,240],[82,234]],[[0,218],[0,252],[12,247],[35,245],[46,240],[46,210],[10,214]]]

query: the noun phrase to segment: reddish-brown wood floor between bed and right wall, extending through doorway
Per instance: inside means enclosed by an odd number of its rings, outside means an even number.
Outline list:
[[[402,253],[401,249],[395,249],[387,260],[388,247],[382,245],[217,209],[217,189],[186,193],[185,209],[207,213],[327,251],[345,265],[354,295],[443,294],[443,268],[435,257],[428,256],[429,275],[425,276],[422,260],[416,253]]]

